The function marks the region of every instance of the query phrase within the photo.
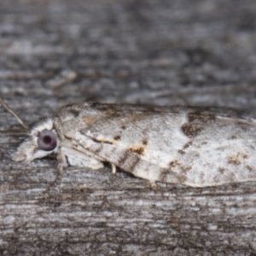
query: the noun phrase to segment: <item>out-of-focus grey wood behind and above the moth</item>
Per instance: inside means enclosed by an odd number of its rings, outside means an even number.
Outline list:
[[[255,108],[255,53],[254,1],[0,1],[0,93],[29,120],[77,101]]]

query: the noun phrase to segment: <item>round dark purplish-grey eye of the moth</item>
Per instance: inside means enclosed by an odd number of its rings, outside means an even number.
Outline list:
[[[41,131],[38,137],[38,147],[45,151],[51,151],[57,146],[57,140],[52,131]]]

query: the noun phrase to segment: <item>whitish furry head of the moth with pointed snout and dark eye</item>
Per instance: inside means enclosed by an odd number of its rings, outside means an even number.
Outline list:
[[[57,152],[59,139],[53,127],[53,119],[42,119],[32,125],[28,135],[29,138],[20,145],[13,160],[29,163]]]

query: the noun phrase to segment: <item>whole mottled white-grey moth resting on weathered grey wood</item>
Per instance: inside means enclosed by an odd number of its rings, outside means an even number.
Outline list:
[[[13,156],[30,163],[55,153],[58,176],[69,164],[91,169],[103,162],[150,182],[207,187],[256,180],[256,120],[218,108],[143,107],[80,102],[29,125]]]

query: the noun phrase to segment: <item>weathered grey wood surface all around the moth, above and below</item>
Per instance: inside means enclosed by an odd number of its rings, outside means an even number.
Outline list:
[[[0,92],[29,122],[77,101],[256,107],[256,3],[1,1]],[[0,108],[1,130],[17,121]],[[256,183],[157,189],[111,167],[11,160],[0,134],[1,255],[254,255]]]

